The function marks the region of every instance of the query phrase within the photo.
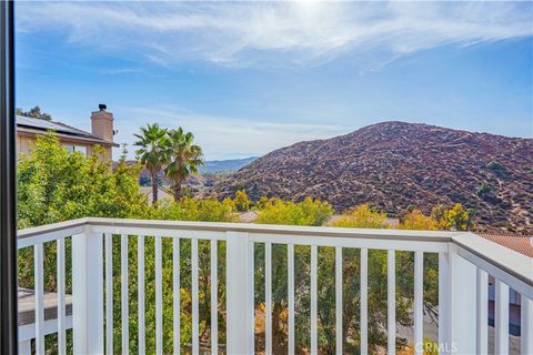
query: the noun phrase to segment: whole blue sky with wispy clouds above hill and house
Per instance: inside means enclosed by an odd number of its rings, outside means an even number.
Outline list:
[[[533,138],[533,2],[19,2],[17,103],[208,159],[390,120]],[[133,151],[133,149],[130,149]],[[133,155],[133,153],[131,153]]]

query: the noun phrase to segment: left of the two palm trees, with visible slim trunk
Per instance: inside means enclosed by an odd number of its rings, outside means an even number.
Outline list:
[[[167,130],[161,129],[158,123],[148,124],[147,128],[141,128],[141,134],[134,135],[139,139],[134,145],[140,146],[135,153],[144,168],[150,172],[152,179],[152,204],[157,206],[158,173],[167,162]]]

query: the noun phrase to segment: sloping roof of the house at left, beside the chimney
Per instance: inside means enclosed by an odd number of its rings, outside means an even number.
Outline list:
[[[51,130],[62,136],[76,138],[82,141],[88,141],[92,143],[102,144],[102,145],[119,146],[118,143],[102,140],[101,138],[98,138],[92,133],[73,128],[62,122],[33,119],[33,118],[28,118],[23,115],[17,115],[17,130],[26,131],[30,133],[39,133],[39,132],[46,132]]]

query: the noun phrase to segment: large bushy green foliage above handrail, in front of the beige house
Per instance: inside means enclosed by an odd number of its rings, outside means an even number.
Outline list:
[[[18,164],[19,229],[83,216],[142,216],[147,203],[139,169],[122,158],[113,170],[98,151],[90,158],[69,154],[56,134],[39,135],[33,152]]]

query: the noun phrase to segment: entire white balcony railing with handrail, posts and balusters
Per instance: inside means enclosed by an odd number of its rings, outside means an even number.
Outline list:
[[[121,235],[121,298],[113,297],[112,236]],[[144,270],[144,236],[154,236],[155,332],[145,334],[144,273],[138,273],[138,348],[145,351],[148,336],[155,338],[157,353],[163,352],[162,313],[162,239],[172,239],[173,344],[180,349],[180,241],[190,240],[192,353],[200,352],[199,342],[199,241],[210,241],[211,344],[218,344],[218,283],[225,283],[228,354],[254,352],[254,244],[263,244],[265,353],[272,353],[272,244],[286,245],[288,260],[288,344],[294,353],[294,246],[308,245],[310,261],[310,351],[318,348],[318,255],[319,247],[335,248],[336,353],[342,354],[342,253],[343,248],[360,250],[360,339],[361,352],[368,351],[368,252],[388,251],[388,353],[395,352],[395,251],[414,252],[414,343],[423,342],[423,254],[439,253],[439,346],[441,353],[486,354],[487,349],[487,277],[495,278],[495,342],[494,352],[509,352],[509,288],[522,296],[521,353],[533,354],[533,260],[471,233],[420,232],[396,230],[353,230],[332,227],[300,227],[250,225],[235,223],[197,223],[169,221],[137,221],[82,219],[19,232],[19,250],[34,251],[34,325],[19,327],[21,353],[29,353],[29,339],[34,349],[44,353],[44,335],[58,334],[58,351],[66,352],[66,329],[72,326],[76,354],[102,354],[113,347],[113,303],[120,302],[122,353],[129,344],[129,241],[137,240],[138,270]],[[72,247],[72,316],[66,313],[64,240]],[[43,244],[57,243],[57,320],[44,320]],[[218,243],[225,243],[225,280],[218,275]],[[130,254],[131,255],[131,254]],[[104,266],[105,265],[105,266]],[[183,275],[181,275],[183,276]],[[187,275],[189,277],[189,275]],[[72,318],[70,318],[72,317]],[[421,347],[415,347],[421,353]]]

